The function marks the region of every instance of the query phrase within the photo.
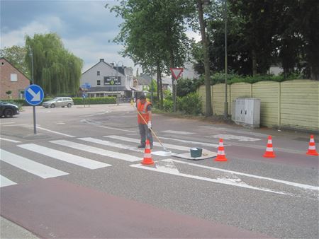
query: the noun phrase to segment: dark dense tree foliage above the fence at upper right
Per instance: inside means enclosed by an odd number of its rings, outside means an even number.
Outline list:
[[[223,3],[211,0],[207,16],[211,71],[223,71]],[[272,64],[284,76],[303,72],[319,79],[319,2],[315,0],[228,0],[228,69],[242,75],[267,74]],[[203,71],[195,45],[196,71]]]

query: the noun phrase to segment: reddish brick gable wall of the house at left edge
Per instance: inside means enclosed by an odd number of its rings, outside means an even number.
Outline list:
[[[11,81],[11,74],[17,74],[17,81]],[[11,98],[21,98],[21,91],[30,85],[30,81],[6,59],[0,59],[0,99],[9,99],[7,91],[12,91]]]

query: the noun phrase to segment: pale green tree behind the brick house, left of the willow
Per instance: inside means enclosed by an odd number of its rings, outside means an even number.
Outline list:
[[[19,69],[23,74],[30,78],[30,71],[26,63],[26,47],[14,45],[12,47],[4,47],[0,49],[0,57],[6,58],[13,66]]]

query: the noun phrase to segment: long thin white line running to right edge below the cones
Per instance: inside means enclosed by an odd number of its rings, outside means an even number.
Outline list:
[[[208,168],[208,169],[211,169],[211,170],[218,170],[218,171],[221,171],[221,172],[233,173],[235,175],[243,175],[243,176],[247,176],[247,177],[254,177],[254,178],[263,179],[263,180],[269,180],[269,181],[273,181],[273,182],[280,182],[280,183],[283,183],[285,185],[291,185],[293,187],[301,187],[304,190],[319,191],[319,187],[315,187],[315,186],[311,186],[311,185],[303,185],[303,184],[297,183],[297,182],[276,180],[276,179],[271,178],[271,177],[262,177],[262,176],[258,176],[258,175],[240,173],[240,172],[231,171],[231,170],[225,170],[225,169],[221,169],[221,168],[213,168],[213,167],[209,167],[209,166],[205,166],[205,165],[198,165],[198,164],[195,164],[195,163],[189,163],[189,162],[179,161],[179,160],[175,160],[175,159],[164,159],[162,161],[173,161],[173,162],[176,162],[176,163],[184,163],[184,164],[192,165],[192,166],[195,166],[195,167],[198,167],[198,168]]]

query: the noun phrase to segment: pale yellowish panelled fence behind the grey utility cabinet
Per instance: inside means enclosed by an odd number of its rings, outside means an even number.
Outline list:
[[[205,86],[198,90],[205,112]],[[214,115],[224,114],[225,84],[211,86]],[[261,100],[260,124],[267,127],[319,132],[319,81],[260,81],[228,85],[228,114],[236,98]]]

